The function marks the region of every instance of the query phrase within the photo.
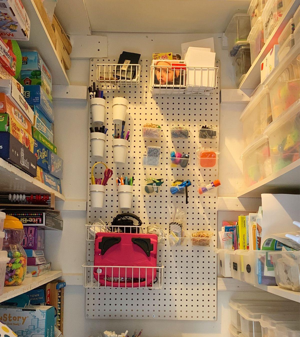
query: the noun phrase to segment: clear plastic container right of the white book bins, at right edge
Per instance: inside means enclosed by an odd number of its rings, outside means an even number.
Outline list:
[[[300,252],[272,252],[276,283],[280,288],[300,291]]]

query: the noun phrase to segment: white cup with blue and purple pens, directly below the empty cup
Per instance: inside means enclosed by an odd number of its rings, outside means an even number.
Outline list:
[[[112,135],[114,163],[125,163],[129,144],[129,133],[130,131],[125,131],[125,121],[122,121],[122,129],[118,129],[116,124],[114,124],[114,133]]]

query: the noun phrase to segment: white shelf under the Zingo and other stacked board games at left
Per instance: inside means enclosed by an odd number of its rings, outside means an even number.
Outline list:
[[[0,177],[1,192],[54,193],[56,198],[65,200],[61,193],[44,185],[2,158],[0,158]]]

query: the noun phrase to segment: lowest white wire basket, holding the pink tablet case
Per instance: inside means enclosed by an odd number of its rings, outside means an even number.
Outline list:
[[[85,288],[161,289],[163,286],[162,263],[156,267],[94,266],[92,261],[82,268]]]

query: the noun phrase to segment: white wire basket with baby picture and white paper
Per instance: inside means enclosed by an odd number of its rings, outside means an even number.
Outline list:
[[[177,69],[176,75],[172,67],[171,65],[150,66],[150,90],[153,95],[209,96],[217,86],[218,67],[182,67]],[[162,82],[163,77],[166,79],[164,82]]]

